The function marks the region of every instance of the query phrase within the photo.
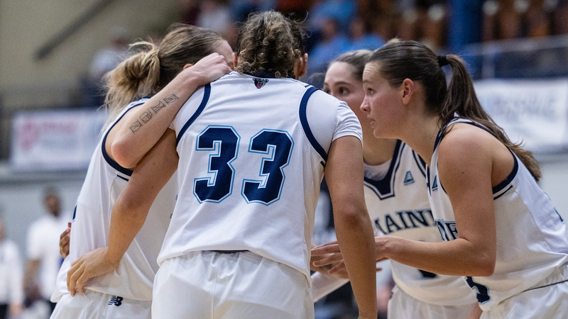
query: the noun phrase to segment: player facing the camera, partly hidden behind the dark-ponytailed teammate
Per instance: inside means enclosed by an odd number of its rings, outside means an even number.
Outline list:
[[[428,203],[425,162],[400,140],[375,138],[361,111],[363,70],[372,54],[358,50],[337,57],[327,69],[323,90],[346,101],[361,122],[365,201],[376,232],[439,242]],[[469,318],[477,308],[469,286],[459,276],[433,274],[395,261],[391,269],[396,286],[388,303],[388,318]],[[325,283],[314,279],[314,291],[320,291],[319,285]]]

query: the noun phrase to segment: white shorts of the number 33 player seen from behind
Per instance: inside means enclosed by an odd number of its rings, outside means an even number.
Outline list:
[[[154,279],[153,318],[314,318],[304,274],[252,252],[189,252]]]

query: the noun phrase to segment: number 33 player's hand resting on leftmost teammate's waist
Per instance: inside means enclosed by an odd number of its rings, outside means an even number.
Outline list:
[[[111,263],[107,259],[108,247],[101,247],[83,254],[71,264],[67,272],[67,290],[71,296],[76,293],[84,293],[84,284],[95,276],[107,274],[119,266],[119,263]]]

